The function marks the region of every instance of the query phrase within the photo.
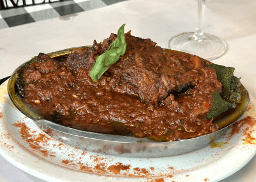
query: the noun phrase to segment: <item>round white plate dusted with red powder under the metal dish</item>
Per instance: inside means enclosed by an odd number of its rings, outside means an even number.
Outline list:
[[[245,116],[256,118],[252,96],[249,108]],[[7,81],[0,87],[0,114],[0,154],[46,181],[219,181],[256,153],[256,126],[246,124],[231,137],[237,127],[213,144],[172,157],[125,158],[77,149],[51,138],[19,112],[7,95]]]

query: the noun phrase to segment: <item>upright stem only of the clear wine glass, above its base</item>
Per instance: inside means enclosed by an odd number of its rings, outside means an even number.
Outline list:
[[[197,4],[197,23],[194,32],[194,38],[201,39],[203,37],[204,9],[206,0],[198,0]]]

